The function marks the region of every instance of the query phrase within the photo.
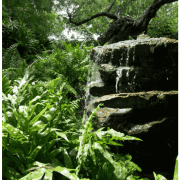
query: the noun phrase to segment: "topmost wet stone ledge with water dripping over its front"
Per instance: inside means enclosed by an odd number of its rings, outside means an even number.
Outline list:
[[[106,46],[94,47],[91,60],[98,65],[168,67],[177,66],[178,41],[169,38],[129,40]],[[169,61],[170,59],[170,61]]]

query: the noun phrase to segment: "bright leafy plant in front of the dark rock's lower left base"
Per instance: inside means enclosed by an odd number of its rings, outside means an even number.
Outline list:
[[[104,128],[100,128],[96,132],[91,132],[93,129],[92,119],[99,109],[99,106],[100,105],[98,105],[96,110],[91,114],[81,130],[82,134],[79,137],[80,146],[77,154],[77,174],[83,175],[84,171],[87,171],[87,176],[90,179],[126,179],[128,176],[131,176],[135,170],[141,171],[141,169],[136,164],[130,162],[131,156],[129,155],[123,159],[115,156],[114,160],[113,155],[108,152],[109,147],[107,144],[122,146],[122,144],[113,140],[140,139],[124,136],[123,133],[110,128],[108,128],[107,131],[102,131]],[[118,161],[116,161],[116,158],[118,158]]]

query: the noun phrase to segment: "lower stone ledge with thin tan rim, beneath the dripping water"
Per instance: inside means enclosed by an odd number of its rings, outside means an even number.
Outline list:
[[[87,111],[92,112],[98,104],[106,108],[160,108],[178,104],[178,91],[148,91],[105,95],[93,100]]]

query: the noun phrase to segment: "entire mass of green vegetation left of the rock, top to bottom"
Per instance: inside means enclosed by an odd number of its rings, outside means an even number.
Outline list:
[[[140,178],[130,155],[112,154],[108,146],[140,139],[110,128],[92,132],[99,107],[84,124],[81,98],[91,43],[97,42],[62,35],[50,41],[66,22],[53,11],[53,1],[3,0],[2,5],[3,179],[147,179]],[[174,25],[168,28],[172,34]]]

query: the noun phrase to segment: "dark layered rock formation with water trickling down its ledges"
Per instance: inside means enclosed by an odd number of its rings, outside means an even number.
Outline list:
[[[94,47],[91,60],[86,120],[103,103],[94,130],[110,127],[143,140],[111,150],[131,154],[145,175],[154,171],[172,179],[178,155],[178,41],[140,35]]]

